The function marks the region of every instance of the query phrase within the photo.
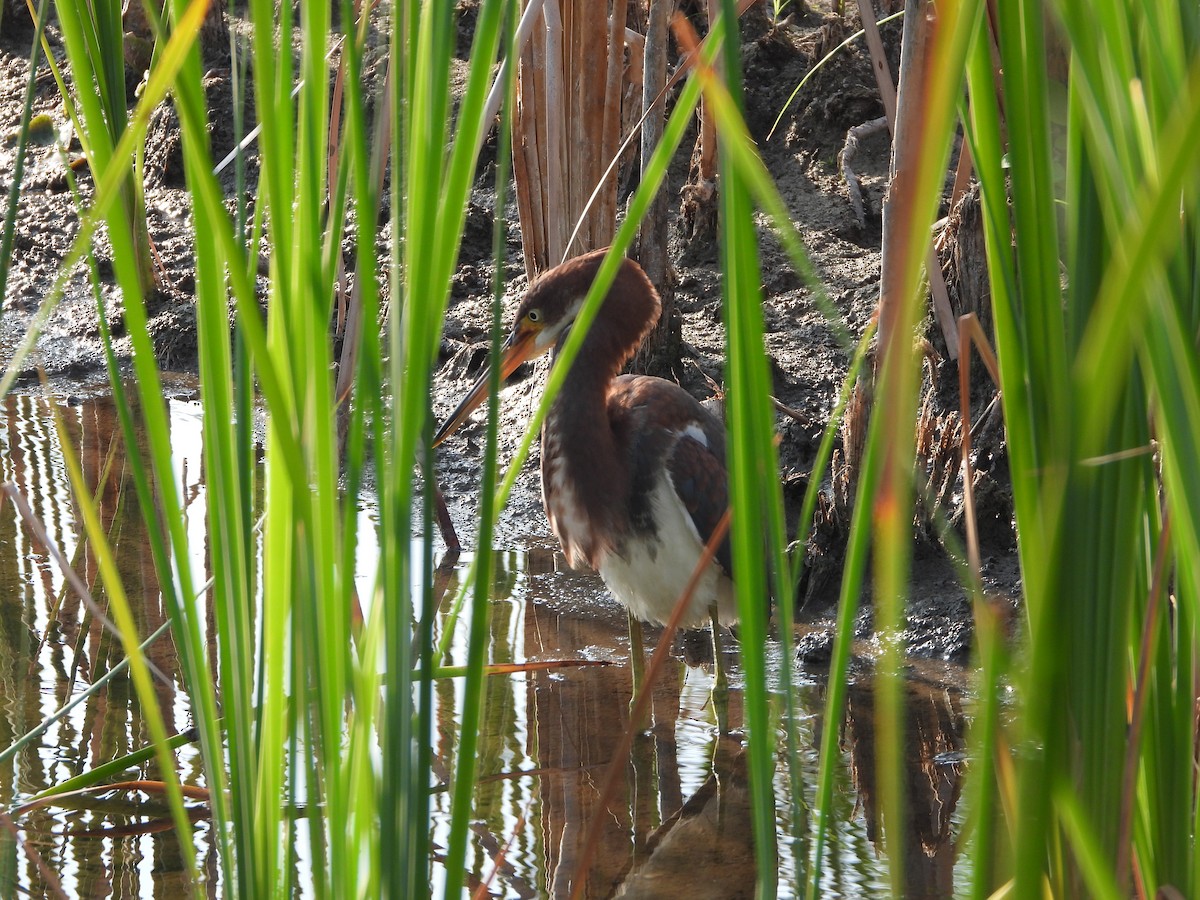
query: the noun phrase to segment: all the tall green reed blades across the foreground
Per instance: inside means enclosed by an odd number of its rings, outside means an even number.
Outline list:
[[[66,6],[60,4],[60,16],[67,19],[82,12],[78,5]],[[300,862],[296,847],[306,846],[302,870],[311,874],[306,877],[314,894],[409,898],[431,890],[433,676],[449,641],[443,635],[436,642],[433,631],[432,492],[424,475],[431,460],[432,373],[475,152],[491,125],[481,110],[493,65],[511,55],[517,11],[503,0],[480,5],[464,88],[454,97],[452,5],[395,5],[388,19],[390,94],[373,98],[364,90],[367,28],[355,25],[354,8],[343,2],[347,88],[330,176],[335,101],[326,55],[332,8],[328,0],[301,4],[295,22],[293,8],[268,0],[252,0],[248,7],[254,106],[264,126],[250,236],[257,238],[260,228],[268,248],[265,317],[256,284],[258,242],[247,242],[241,216],[230,215],[212,174],[196,48],[203,2],[170,4],[169,41],[127,128],[110,133],[108,124],[118,119],[102,109],[98,118],[85,116],[91,144],[102,151],[95,156],[92,206],[71,262],[84,256],[104,218],[139,395],[136,404],[119,395],[122,424],[130,446],[138,444],[134,430],[148,436],[134,479],[140,505],[152,518],[155,563],[202,736],[224,890],[239,896],[290,893],[299,887],[292,883]],[[732,2],[725,2],[724,14],[733,19]],[[937,16],[919,70],[920,115],[906,126],[920,162],[893,185],[896,205],[889,215],[904,239],[889,248],[900,265],[884,286],[892,306],[884,313],[876,413],[852,523],[811,817],[797,815],[798,796],[774,796],[776,726],[796,721],[796,673],[790,642],[781,642],[782,653],[773,660],[769,654],[779,649],[767,640],[767,598],[787,598],[792,576],[784,553],[762,342],[758,210],[768,215],[798,271],[811,266],[739,112],[733,29],[722,35],[714,26],[709,55],[683,88],[665,144],[614,240],[618,252],[626,246],[703,90],[721,138],[728,458],[758,892],[820,892],[840,760],[834,722],[845,703],[851,629],[870,558],[880,604],[876,622],[887,638],[876,704],[884,847],[893,893],[904,893],[904,835],[890,827],[902,821],[905,803],[896,775],[902,762],[898,750],[905,745],[898,680],[902,648],[888,635],[902,624],[910,570],[919,371],[911,336],[920,308],[919,268],[965,83],[961,121],[985,214],[1026,599],[1010,653],[990,620],[980,619],[983,696],[964,835],[972,893],[1122,896],[1136,880],[1146,895],[1172,886],[1189,896],[1198,888],[1200,815],[1194,786],[1200,13],[1180,0],[1060,0],[1048,17],[1042,4],[1013,0],[996,6],[994,22],[979,2],[940,4]],[[83,20],[74,22],[80,31],[67,43],[78,84],[88,60],[101,56],[84,40]],[[96,35],[115,41],[112,22],[106,22]],[[281,35],[296,35],[295,44]],[[1051,40],[1067,49],[1070,78],[1064,90],[1048,76]],[[724,79],[712,65],[718,42]],[[296,82],[301,88],[293,97]],[[198,596],[202,578],[188,566],[182,505],[170,478],[160,373],[143,305],[145,282],[133,244],[139,210],[125,194],[149,109],[168,86],[184,132],[196,236],[214,576],[204,598]],[[392,134],[386,277],[374,256],[383,198],[373,161],[388,148],[372,146],[367,137],[371,109],[389,116]],[[348,268],[356,280],[362,329],[343,457],[329,326],[347,241],[354,247]],[[498,241],[497,256],[502,250]],[[577,331],[594,314],[604,278],[614,270],[616,260],[601,270]],[[581,340],[572,334],[563,365]],[[119,391],[115,367],[113,376]],[[0,390],[11,382],[10,371]],[[557,371],[517,464],[560,382]],[[137,421],[134,407],[140,410]],[[265,485],[256,485],[247,464],[253,458],[248,422],[257,409],[266,421]],[[503,502],[515,476],[498,478],[494,434],[492,414],[482,478],[486,523],[496,516],[491,486],[499,482],[494,499]],[[378,494],[380,557],[376,583],[360,594],[354,559],[362,538],[354,510],[368,466]],[[253,510],[262,492],[259,545]],[[766,539],[751,522],[764,523]],[[480,534],[488,534],[487,526]],[[421,542],[414,545],[418,536]],[[94,524],[89,539],[106,546]],[[472,604],[464,737],[484,712],[487,550],[485,541],[476,574],[468,580],[469,598],[462,599]],[[115,595],[113,566],[103,576]],[[362,608],[361,625],[355,604]],[[215,656],[205,646],[209,606],[217,625]],[[781,620],[786,628],[790,617]],[[137,640],[125,637],[137,672]],[[772,670],[782,678],[775,692],[768,690]],[[1015,688],[1015,700],[1002,718],[1006,683]],[[143,701],[149,707],[154,697],[146,694]],[[169,773],[166,736],[157,743]],[[793,785],[797,755],[804,750],[787,742],[784,751],[791,757]],[[468,737],[452,773],[448,898],[462,893],[475,766]],[[797,874],[794,886],[778,884],[776,803],[792,805],[793,836],[811,847],[810,868]],[[178,793],[175,808],[182,821]],[[197,892],[203,890],[198,883]]]

